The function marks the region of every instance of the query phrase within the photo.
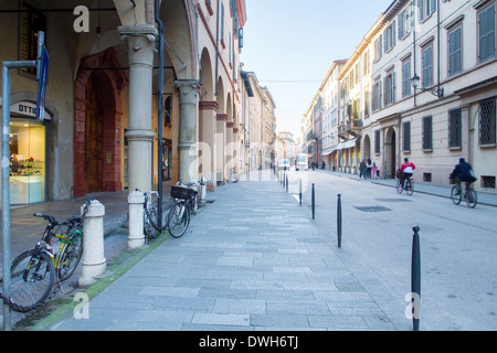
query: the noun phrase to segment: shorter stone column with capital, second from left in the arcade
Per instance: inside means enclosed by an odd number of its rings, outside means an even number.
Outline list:
[[[179,179],[189,181],[195,176],[197,161],[195,147],[195,114],[197,114],[197,88],[200,87],[195,79],[175,82],[179,89],[180,98],[180,136],[179,136]]]

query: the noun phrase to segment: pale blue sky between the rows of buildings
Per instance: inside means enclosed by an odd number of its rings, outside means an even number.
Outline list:
[[[334,61],[348,60],[393,0],[245,0],[243,71],[276,104],[276,131],[296,139]]]

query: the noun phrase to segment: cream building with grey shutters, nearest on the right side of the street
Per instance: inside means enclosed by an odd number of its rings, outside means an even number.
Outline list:
[[[495,1],[479,0],[399,0],[384,13],[373,40],[376,103],[362,131],[383,176],[409,158],[416,182],[448,185],[464,157],[476,189],[496,192],[495,13]]]

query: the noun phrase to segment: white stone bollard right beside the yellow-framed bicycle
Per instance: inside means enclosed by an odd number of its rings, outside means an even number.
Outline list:
[[[82,207],[83,214],[83,207]],[[78,284],[81,287],[93,285],[107,270],[104,257],[104,215],[105,206],[94,200],[86,211],[83,224],[83,263]]]

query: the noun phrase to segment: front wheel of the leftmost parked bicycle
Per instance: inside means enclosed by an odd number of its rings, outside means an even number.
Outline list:
[[[45,253],[33,255],[27,250],[12,261],[10,298],[15,311],[29,311],[50,296],[55,280],[55,268]]]

